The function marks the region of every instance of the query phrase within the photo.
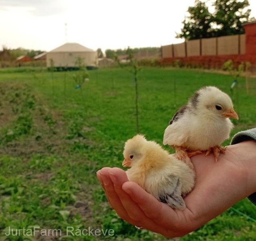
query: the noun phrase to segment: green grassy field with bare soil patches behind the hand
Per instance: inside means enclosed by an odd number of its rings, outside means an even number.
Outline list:
[[[119,219],[96,180],[101,167],[121,167],[124,142],[136,134],[133,76],[124,69],[89,71],[90,81],[76,90],[74,74],[0,69],[0,240],[53,240],[6,237],[9,226],[61,229],[62,234],[66,226],[115,230],[114,236],[57,240],[166,240]],[[199,70],[142,69],[140,132],[162,143],[176,110],[207,85],[232,96],[240,116],[232,135],[255,127],[256,92],[246,94],[240,78],[231,93],[232,81],[231,76]],[[256,219],[256,207],[248,200],[234,207]],[[256,240],[256,223],[227,210],[180,240]]]

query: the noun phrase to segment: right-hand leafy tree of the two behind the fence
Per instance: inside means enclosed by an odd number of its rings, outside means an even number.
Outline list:
[[[248,0],[215,0],[215,12],[213,21],[216,23],[217,36],[233,35],[244,33],[243,23],[250,22],[250,9]]]

